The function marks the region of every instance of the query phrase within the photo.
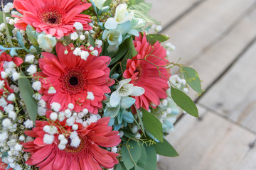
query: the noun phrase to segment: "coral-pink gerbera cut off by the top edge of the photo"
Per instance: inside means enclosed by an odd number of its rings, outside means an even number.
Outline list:
[[[26,30],[30,25],[39,33],[44,31],[60,39],[74,32],[75,22],[82,23],[84,30],[92,29],[88,25],[90,16],[80,14],[91,5],[81,0],[14,0],[14,8],[23,15],[16,16],[21,20],[15,27]]]

